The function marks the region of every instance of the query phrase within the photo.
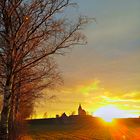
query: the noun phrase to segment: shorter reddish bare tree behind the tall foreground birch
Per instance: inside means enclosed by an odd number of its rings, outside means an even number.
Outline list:
[[[24,69],[14,80],[14,96],[11,99],[8,126],[11,139],[15,140],[16,137],[21,135],[20,128],[23,128],[24,120],[32,115],[36,99],[43,98],[40,91],[44,88],[54,88],[61,83],[56,68],[56,64],[52,59],[46,59],[45,67],[40,66],[33,71],[32,69]]]

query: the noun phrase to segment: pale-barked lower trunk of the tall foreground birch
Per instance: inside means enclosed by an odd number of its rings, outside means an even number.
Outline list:
[[[3,108],[1,112],[0,140],[8,140],[8,120],[10,114],[10,102],[12,92],[12,84],[10,81],[11,80],[7,80],[4,90]]]

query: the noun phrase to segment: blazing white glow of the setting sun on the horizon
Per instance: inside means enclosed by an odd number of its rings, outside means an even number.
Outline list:
[[[126,114],[126,111],[120,110],[114,105],[107,105],[96,110],[94,116],[101,117],[106,122],[112,122],[113,118],[121,118],[126,116]]]

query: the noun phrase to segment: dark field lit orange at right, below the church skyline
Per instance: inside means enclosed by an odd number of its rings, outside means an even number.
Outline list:
[[[140,140],[138,119],[115,120],[105,123],[99,119],[78,120],[76,123],[29,123],[26,140]]]

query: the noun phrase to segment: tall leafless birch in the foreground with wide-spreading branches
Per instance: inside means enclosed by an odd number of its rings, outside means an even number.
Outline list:
[[[63,54],[65,48],[85,43],[85,37],[79,30],[87,23],[87,18],[79,18],[72,24],[61,16],[70,5],[73,5],[70,0],[0,1],[2,140],[10,139],[8,134],[11,129],[8,130],[8,126],[13,106],[16,111],[20,108],[21,99],[27,99],[19,98],[19,94],[20,97],[32,98],[39,87],[40,90],[49,84],[54,85],[54,82],[50,81],[55,79],[56,75],[54,76],[49,68],[48,60],[53,58],[54,54]],[[50,71],[52,74],[48,76]],[[40,85],[46,77],[50,80],[48,84]]]

